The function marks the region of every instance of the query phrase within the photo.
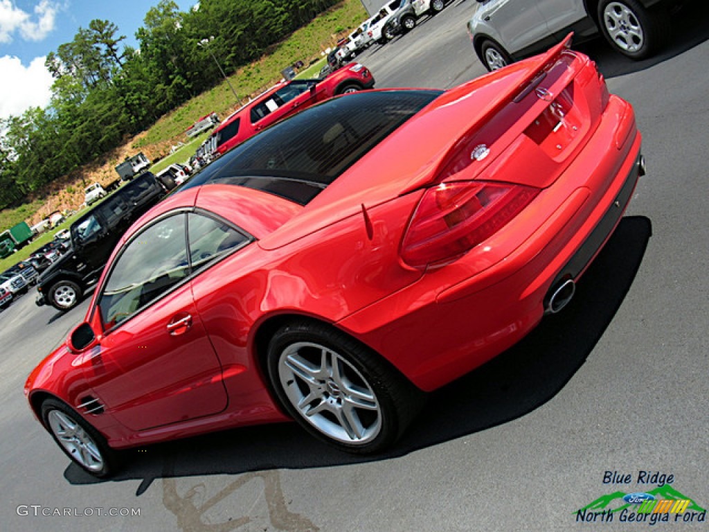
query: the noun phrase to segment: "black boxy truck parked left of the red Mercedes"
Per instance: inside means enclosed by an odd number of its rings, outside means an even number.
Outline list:
[[[154,174],[145,172],[72,223],[71,248],[40,275],[35,302],[60,311],[76,306],[98,282],[108,257],[130,224],[167,192]]]

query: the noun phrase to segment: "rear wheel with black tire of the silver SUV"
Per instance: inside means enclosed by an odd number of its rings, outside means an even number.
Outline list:
[[[666,10],[650,11],[636,0],[601,0],[598,26],[613,49],[632,60],[649,57],[671,37]]]

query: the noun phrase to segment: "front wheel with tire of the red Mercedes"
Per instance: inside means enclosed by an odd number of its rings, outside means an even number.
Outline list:
[[[116,453],[108,447],[106,438],[65,403],[46,399],[41,416],[60,449],[89,475],[106,478],[116,472]],[[64,438],[62,431],[65,431]]]

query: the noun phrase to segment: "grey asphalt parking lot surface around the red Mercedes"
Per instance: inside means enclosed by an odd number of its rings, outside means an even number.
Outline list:
[[[136,449],[117,477],[96,480],[55,447],[22,393],[87,303],[62,315],[35,306],[33,291],[15,301],[0,313],[2,528],[708,530],[699,509],[709,508],[709,9],[700,4],[676,14],[673,44],[650,60],[629,62],[601,41],[581,48],[635,106],[648,174],[571,304],[432,394],[387,455],[342,455],[291,423]],[[484,74],[464,29],[473,7],[456,0],[358,60],[380,88],[445,89]],[[693,505],[655,525],[622,513],[579,521],[579,509],[615,492]]]

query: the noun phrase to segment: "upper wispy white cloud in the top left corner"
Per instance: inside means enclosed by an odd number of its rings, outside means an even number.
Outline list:
[[[43,40],[55,28],[58,10],[57,2],[41,0],[32,16],[11,0],[0,0],[0,43],[10,43],[17,32],[26,40]]]

